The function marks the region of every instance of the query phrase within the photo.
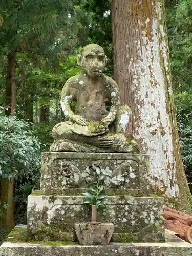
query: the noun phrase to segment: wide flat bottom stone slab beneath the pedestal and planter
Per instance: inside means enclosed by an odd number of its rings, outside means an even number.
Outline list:
[[[105,246],[64,245],[62,242],[25,242],[10,239],[0,247],[0,256],[191,256],[192,245],[166,232],[165,243],[111,243]],[[19,243],[20,241],[20,243]]]

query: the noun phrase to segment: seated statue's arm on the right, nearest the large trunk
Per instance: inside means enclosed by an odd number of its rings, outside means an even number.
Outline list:
[[[113,123],[116,118],[117,111],[120,105],[120,93],[117,83],[110,77],[106,76],[107,86],[106,93],[111,102],[111,108],[106,117],[103,118],[103,122],[107,125]]]

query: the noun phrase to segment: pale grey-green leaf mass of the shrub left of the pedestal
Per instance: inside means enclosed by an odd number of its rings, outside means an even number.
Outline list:
[[[30,124],[15,116],[0,115],[0,174],[7,179],[36,179],[40,168],[40,142]]]

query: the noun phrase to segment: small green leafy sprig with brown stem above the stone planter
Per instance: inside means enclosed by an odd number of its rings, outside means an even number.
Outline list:
[[[104,199],[106,198],[106,194],[104,180],[106,177],[109,177],[105,170],[100,167],[95,167],[94,170],[98,176],[97,182],[91,182],[86,188],[86,191],[82,193],[86,197],[84,203],[92,206],[92,223],[97,222],[97,209],[105,207]]]

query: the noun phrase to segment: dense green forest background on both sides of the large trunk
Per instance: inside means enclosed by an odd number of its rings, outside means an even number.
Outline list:
[[[106,74],[113,77],[110,1],[1,0],[0,10],[0,219],[9,207],[5,195],[13,193],[14,223],[26,224],[27,196],[39,188],[40,152],[50,147],[52,128],[64,119],[60,91],[80,71],[80,49],[91,42],[101,45],[109,59]],[[192,191],[192,0],[166,1],[166,22],[180,145]],[[2,225],[0,240],[6,232]]]

